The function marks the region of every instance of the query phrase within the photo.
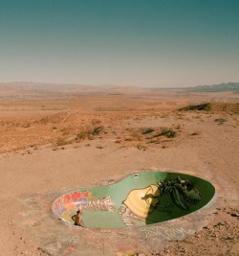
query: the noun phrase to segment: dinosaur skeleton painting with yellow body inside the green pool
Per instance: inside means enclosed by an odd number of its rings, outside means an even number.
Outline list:
[[[160,197],[163,195],[169,195],[173,204],[168,202],[164,206],[160,205]],[[160,181],[157,185],[151,184],[143,189],[131,190],[122,201],[119,215],[126,226],[143,225],[154,210],[170,214],[168,207],[177,206],[188,211],[187,203],[197,204],[201,198],[200,192],[189,180],[177,177],[174,180]]]

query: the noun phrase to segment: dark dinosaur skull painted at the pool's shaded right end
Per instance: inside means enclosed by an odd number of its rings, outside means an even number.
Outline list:
[[[188,179],[181,179],[180,177],[176,178],[175,187],[187,202],[196,204],[202,199],[200,192]]]

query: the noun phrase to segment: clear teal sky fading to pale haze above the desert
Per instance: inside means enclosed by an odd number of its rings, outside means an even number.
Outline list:
[[[0,0],[0,81],[239,81],[239,1]]]

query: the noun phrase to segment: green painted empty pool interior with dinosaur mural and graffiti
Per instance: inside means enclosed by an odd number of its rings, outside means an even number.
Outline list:
[[[69,192],[56,198],[52,208],[59,219],[73,224],[78,211],[84,227],[123,228],[180,218],[205,206],[214,193],[199,177],[141,173],[109,186]]]

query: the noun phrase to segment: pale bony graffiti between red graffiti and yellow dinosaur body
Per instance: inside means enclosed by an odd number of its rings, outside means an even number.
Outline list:
[[[99,198],[96,201],[90,200],[88,204],[83,207],[83,209],[93,210],[93,211],[108,211],[114,212],[115,205],[112,203],[111,198]]]

